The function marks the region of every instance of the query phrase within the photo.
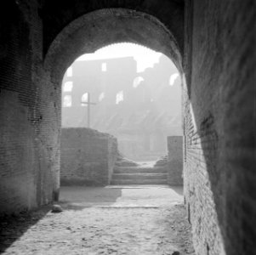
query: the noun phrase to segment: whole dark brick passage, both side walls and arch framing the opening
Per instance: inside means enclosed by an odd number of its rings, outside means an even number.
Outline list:
[[[255,254],[255,17],[249,0],[3,0],[0,213],[58,199],[68,66],[134,42],[173,59],[182,75],[196,253]]]

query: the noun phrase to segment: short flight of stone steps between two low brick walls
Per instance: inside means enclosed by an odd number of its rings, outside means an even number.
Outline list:
[[[165,167],[114,167],[112,185],[167,184]]]

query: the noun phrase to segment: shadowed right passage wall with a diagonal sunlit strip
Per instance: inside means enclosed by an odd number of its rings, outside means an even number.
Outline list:
[[[256,252],[255,10],[186,3],[185,201],[197,254]]]

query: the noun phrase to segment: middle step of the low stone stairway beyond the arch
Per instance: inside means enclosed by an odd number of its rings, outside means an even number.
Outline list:
[[[112,179],[167,179],[167,173],[113,173]]]

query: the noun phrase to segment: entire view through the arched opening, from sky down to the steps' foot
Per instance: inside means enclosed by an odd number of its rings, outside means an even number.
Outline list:
[[[138,75],[143,81],[134,86]],[[167,56],[134,43],[76,59],[62,82],[61,185],[182,185],[177,76]],[[100,142],[103,133],[109,150]]]

